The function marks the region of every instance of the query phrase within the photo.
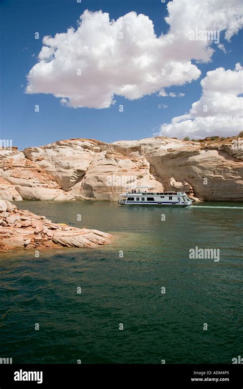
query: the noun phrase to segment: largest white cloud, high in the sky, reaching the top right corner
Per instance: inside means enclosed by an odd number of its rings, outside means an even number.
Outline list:
[[[68,106],[101,109],[114,103],[114,95],[134,100],[183,85],[200,76],[191,60],[209,61],[216,47],[190,40],[190,31],[225,31],[229,40],[243,24],[241,0],[174,0],[167,8],[170,29],[160,37],[143,14],[115,21],[86,10],[76,30],[44,37],[26,93],[51,93]]]

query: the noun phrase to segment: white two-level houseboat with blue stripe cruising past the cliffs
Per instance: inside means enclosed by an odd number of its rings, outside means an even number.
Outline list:
[[[118,203],[122,205],[177,205],[187,207],[193,202],[185,192],[152,192],[143,190],[144,188],[136,187],[122,193]]]

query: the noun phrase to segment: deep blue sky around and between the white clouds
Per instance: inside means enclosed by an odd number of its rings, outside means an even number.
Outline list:
[[[208,63],[197,63],[201,76],[181,86],[167,88],[167,93],[184,93],[181,98],[160,97],[158,93],[137,100],[115,96],[116,103],[105,109],[72,108],[60,104],[51,94],[26,94],[26,76],[37,63],[42,38],[77,28],[83,12],[102,10],[117,19],[130,11],[143,13],[153,21],[157,36],[168,32],[167,8],[159,0],[94,1],[83,0],[2,0],[1,3],[1,139],[12,139],[19,148],[38,146],[60,139],[93,138],[106,142],[151,137],[163,123],[184,115],[200,99],[200,80],[218,67],[233,70],[242,64],[242,30],[231,41],[223,40],[227,53],[215,45]],[[38,31],[40,39],[34,39]],[[35,56],[33,56],[35,54]],[[192,60],[195,63],[194,60]],[[34,111],[35,104],[39,112]],[[119,112],[119,104],[124,112]],[[158,104],[168,108],[158,108]]]

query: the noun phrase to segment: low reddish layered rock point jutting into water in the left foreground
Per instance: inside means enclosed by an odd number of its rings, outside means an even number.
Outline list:
[[[109,244],[112,235],[87,228],[52,223],[45,216],[0,200],[0,251],[60,247],[88,248]]]

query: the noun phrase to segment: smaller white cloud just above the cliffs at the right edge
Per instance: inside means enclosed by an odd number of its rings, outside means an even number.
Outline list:
[[[206,136],[233,136],[242,130],[243,68],[217,68],[201,80],[202,95],[189,114],[160,127],[160,135],[200,139]]]

